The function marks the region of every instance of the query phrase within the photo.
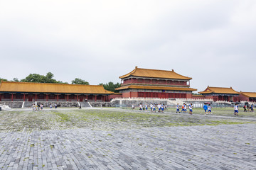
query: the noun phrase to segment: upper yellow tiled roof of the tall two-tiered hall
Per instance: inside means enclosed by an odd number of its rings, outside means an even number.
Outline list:
[[[123,79],[129,76],[152,77],[152,78],[160,78],[160,79],[185,79],[185,80],[192,79],[191,77],[185,77],[185,76],[182,76],[181,74],[177,74],[176,72],[174,72],[174,70],[167,71],[167,70],[159,70],[159,69],[141,69],[138,67],[135,67],[135,69],[132,70],[132,72],[129,72],[128,74],[125,74],[119,78]]]

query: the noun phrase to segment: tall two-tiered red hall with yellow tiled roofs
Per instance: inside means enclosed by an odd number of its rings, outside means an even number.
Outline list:
[[[191,77],[177,74],[174,70],[142,69],[135,67],[121,77],[117,88],[123,98],[192,98]]]

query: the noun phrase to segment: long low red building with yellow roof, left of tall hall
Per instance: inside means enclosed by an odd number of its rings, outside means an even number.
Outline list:
[[[0,101],[110,101],[103,86],[1,81]]]

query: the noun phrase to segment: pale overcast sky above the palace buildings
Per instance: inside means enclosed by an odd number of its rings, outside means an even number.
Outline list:
[[[256,1],[0,0],[0,77],[100,84],[135,66],[256,91]]]

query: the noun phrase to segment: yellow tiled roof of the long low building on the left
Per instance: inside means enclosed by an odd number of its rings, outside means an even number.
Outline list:
[[[80,84],[43,84],[2,81],[0,91],[6,92],[33,92],[55,94],[113,94],[103,86]]]

